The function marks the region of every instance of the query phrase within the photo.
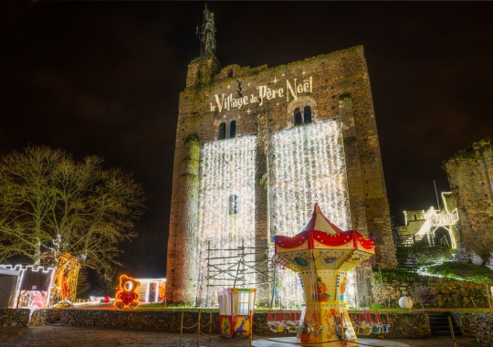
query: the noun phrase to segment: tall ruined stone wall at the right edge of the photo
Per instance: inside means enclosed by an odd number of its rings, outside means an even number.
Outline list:
[[[487,259],[493,249],[493,151],[477,142],[445,165],[456,198],[462,239],[468,251]]]

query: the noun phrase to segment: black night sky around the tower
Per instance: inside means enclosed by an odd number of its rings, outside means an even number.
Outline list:
[[[209,2],[223,66],[363,45],[391,214],[436,206],[442,163],[493,127],[493,3]],[[88,154],[143,184],[134,276],[164,277],[179,93],[204,3],[2,2],[0,155]],[[125,247],[128,247],[125,246]],[[134,252],[135,254],[135,252]]]

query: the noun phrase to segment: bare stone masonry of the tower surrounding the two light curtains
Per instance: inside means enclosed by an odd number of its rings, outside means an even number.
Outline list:
[[[295,125],[292,110],[305,103],[312,106],[312,121],[341,121],[351,228],[375,237],[377,262],[382,268],[394,268],[390,213],[363,48],[351,47],[275,68],[231,65],[219,70],[219,66],[215,56],[194,59],[188,67],[187,87],[180,94],[166,273],[168,298],[183,302],[194,297],[194,293],[184,294],[184,290],[190,288],[189,275],[194,273],[196,266],[193,240],[196,230],[189,228],[196,226],[198,217],[196,209],[192,208],[195,202],[190,205],[185,201],[190,187],[180,179],[182,163],[189,156],[184,146],[187,137],[196,135],[200,144],[217,141],[221,122],[226,123],[226,133],[229,133],[231,121],[236,121],[236,137],[257,135],[256,178],[260,181],[267,174],[267,190],[256,185],[257,245],[267,247],[270,236],[275,234],[269,229],[268,221],[272,217],[267,196],[271,189],[268,186],[269,140],[276,131]],[[298,83],[300,89],[294,87],[301,90],[298,95],[288,91],[287,80],[292,86]],[[283,92],[279,93],[281,88]],[[269,89],[263,100],[259,98],[261,89]],[[218,105],[216,102],[228,96],[237,99],[240,94],[243,100],[248,100],[241,108],[230,107],[228,110],[224,103]],[[258,102],[249,102],[256,97]],[[191,244],[186,244],[186,240]],[[177,257],[181,254],[191,257],[190,261],[178,262]],[[260,298],[262,294],[258,294]]]

